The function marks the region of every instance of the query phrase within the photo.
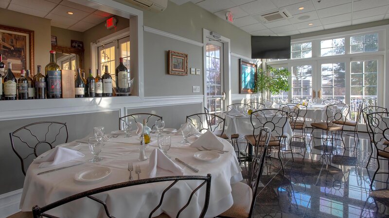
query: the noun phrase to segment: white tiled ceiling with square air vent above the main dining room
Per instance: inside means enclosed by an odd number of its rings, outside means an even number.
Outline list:
[[[389,0],[172,0],[192,1],[252,35],[294,35],[389,19]],[[304,7],[303,10],[299,10]],[[293,17],[262,23],[258,16],[286,9]],[[227,22],[227,21],[226,21]],[[312,24],[312,25],[308,25]]]

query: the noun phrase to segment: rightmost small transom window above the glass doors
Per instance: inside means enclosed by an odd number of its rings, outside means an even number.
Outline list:
[[[378,33],[350,37],[350,52],[378,51]]]

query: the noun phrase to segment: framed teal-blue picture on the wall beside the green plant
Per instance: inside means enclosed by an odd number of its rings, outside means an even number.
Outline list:
[[[239,93],[253,93],[257,79],[257,64],[239,59]]]

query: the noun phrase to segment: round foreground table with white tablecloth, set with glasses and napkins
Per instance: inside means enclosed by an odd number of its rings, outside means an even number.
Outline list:
[[[232,145],[211,131],[202,134],[195,130],[194,125],[183,124],[178,130],[156,126],[157,131],[150,130],[150,142],[147,144],[141,143],[142,135],[136,132],[134,134],[132,128],[107,134],[104,129],[94,128],[92,137],[58,145],[38,156],[26,173],[20,209],[31,211],[35,205],[44,206],[85,190],[129,180],[208,173],[212,174],[212,184],[216,185],[211,186],[206,217],[217,216],[229,209],[233,204],[231,184],[243,179]],[[179,191],[169,190],[166,197],[183,198],[185,193],[192,191],[190,187],[195,187],[195,184],[191,184],[193,182],[195,181],[181,181],[176,184]],[[161,193],[168,185],[146,184],[141,188],[128,187],[121,191],[100,193],[95,197],[106,201],[115,217],[128,217],[128,212],[133,217],[145,217],[153,207],[148,205],[155,207],[159,203],[156,194]],[[200,191],[200,195],[204,192],[205,190]],[[197,207],[197,203],[202,205],[204,198],[193,198],[197,200],[193,199],[192,202],[195,203],[191,202],[182,212],[183,217],[201,213],[202,208]],[[180,203],[163,203],[155,215],[164,212],[175,217],[177,208],[182,206]],[[88,208],[88,213],[83,208]],[[75,217],[75,214],[85,218],[102,217],[104,213],[100,204],[87,198],[51,211],[52,215],[58,217]]]

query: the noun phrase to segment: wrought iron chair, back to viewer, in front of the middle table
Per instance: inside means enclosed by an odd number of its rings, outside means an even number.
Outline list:
[[[253,127],[252,135],[246,135],[247,145],[254,146],[258,139],[258,130],[263,127],[268,127],[271,130],[271,137],[269,140],[269,146],[278,147],[278,160],[280,161],[281,168],[283,170],[283,162],[280,156],[281,151],[285,151],[281,148],[282,144],[286,144],[286,137],[283,135],[283,130],[287,122],[288,113],[280,109],[262,109],[256,110],[251,113],[250,122]],[[292,152],[292,150],[289,150]],[[250,152],[249,152],[250,153]],[[292,152],[293,157],[293,152]],[[283,170],[283,173],[285,171]]]

